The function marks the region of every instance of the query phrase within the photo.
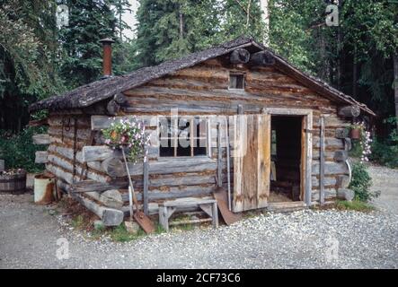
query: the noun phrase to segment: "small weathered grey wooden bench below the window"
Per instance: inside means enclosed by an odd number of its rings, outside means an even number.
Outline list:
[[[208,214],[209,218],[169,223],[169,219],[173,213],[175,213],[179,209],[187,209],[190,207],[199,207],[202,211]],[[169,231],[169,225],[200,222],[213,222],[213,227],[218,227],[218,208],[217,201],[215,199],[198,198],[181,201],[166,201],[163,204],[159,204],[159,223],[166,231]]]

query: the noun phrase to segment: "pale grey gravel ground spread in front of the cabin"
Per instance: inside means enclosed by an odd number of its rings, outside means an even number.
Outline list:
[[[377,212],[266,213],[128,243],[86,239],[31,195],[2,195],[0,268],[397,268],[398,170],[371,171]],[[59,260],[61,238],[69,258]]]

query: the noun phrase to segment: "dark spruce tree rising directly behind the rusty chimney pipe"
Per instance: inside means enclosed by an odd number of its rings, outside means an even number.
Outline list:
[[[69,25],[59,31],[64,52],[62,76],[69,88],[99,80],[102,75],[102,46],[111,38],[120,43],[118,11],[128,6],[125,0],[65,0],[69,7]],[[122,27],[119,27],[122,25]],[[117,45],[116,44],[116,45]]]

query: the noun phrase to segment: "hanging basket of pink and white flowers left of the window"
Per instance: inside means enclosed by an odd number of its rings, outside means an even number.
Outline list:
[[[143,159],[146,162],[149,135],[146,135],[146,127],[137,117],[119,119],[102,130],[102,134],[105,144],[113,149],[123,149],[128,154],[128,161],[136,163]]]

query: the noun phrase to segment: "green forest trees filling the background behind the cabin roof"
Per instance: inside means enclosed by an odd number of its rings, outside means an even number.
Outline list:
[[[270,30],[261,22],[260,0],[139,0],[137,27],[121,14],[128,0],[57,0],[70,7],[59,29],[55,0],[0,0],[0,129],[21,133],[29,105],[101,78],[99,39],[114,45],[114,74],[156,65],[242,34],[261,40],[297,67],[331,83],[375,110],[374,160],[396,154],[394,57],[398,57],[395,0],[270,0]],[[325,25],[327,4],[338,4],[340,25]],[[135,29],[126,39],[123,30]],[[398,73],[398,72],[397,72]],[[29,147],[26,147],[29,149]],[[390,160],[389,160],[390,161]]]

